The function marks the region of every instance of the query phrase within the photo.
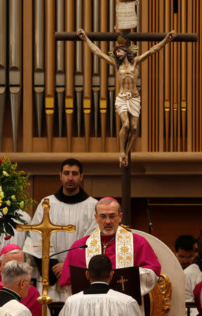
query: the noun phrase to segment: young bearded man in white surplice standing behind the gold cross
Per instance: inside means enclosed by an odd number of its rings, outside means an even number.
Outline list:
[[[76,225],[75,232],[53,232],[50,237],[50,255],[69,249],[72,244],[79,238],[89,235],[95,228],[95,204],[96,199],[89,197],[88,194],[80,186],[83,180],[83,166],[76,159],[66,159],[62,162],[60,168],[60,180],[62,187],[54,195],[46,197],[50,203],[50,221],[55,225]],[[34,213],[32,225],[41,223],[43,219],[43,199]],[[39,267],[41,264],[41,234],[31,232],[30,237],[25,240],[23,251],[35,257],[35,261]],[[52,277],[49,277],[50,285],[55,284],[60,278],[62,266],[67,253],[59,254],[53,258],[58,260],[58,263],[52,261]],[[37,259],[38,258],[38,259]],[[40,268],[39,268],[40,270]],[[34,277],[34,275],[32,275]],[[37,276],[37,289],[42,292],[41,278]],[[64,301],[64,293],[56,290],[56,285],[49,288],[48,295],[53,298],[53,301]]]

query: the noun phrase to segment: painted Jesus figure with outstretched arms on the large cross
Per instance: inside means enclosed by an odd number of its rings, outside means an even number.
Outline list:
[[[142,55],[133,56],[134,51],[130,51],[125,45],[114,47],[112,55],[106,55],[100,51],[95,44],[86,36],[83,29],[79,29],[77,35],[89,46],[90,50],[95,55],[104,59],[109,65],[116,69],[116,74],[119,78],[120,91],[116,96],[115,106],[121,117],[122,127],[119,133],[120,139],[120,167],[128,166],[128,154],[133,147],[134,141],[137,137],[137,123],[140,116],[140,95],[137,90],[137,75],[139,65],[141,62],[149,58],[149,56],[157,53],[166,44],[176,37],[175,31],[169,32],[166,37],[159,44],[156,44],[149,51],[142,53]],[[129,136],[128,136],[129,132]]]

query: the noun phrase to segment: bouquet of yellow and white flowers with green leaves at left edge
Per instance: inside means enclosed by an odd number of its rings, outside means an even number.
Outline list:
[[[17,163],[11,164],[8,157],[0,159],[0,235],[6,234],[4,239],[14,236],[14,230],[19,223],[27,224],[22,219],[20,209],[27,211],[36,204],[29,198],[27,186],[29,175],[24,171],[16,171]]]

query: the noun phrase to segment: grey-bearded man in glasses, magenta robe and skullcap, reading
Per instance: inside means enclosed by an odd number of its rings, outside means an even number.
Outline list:
[[[144,296],[151,291],[159,279],[161,264],[152,247],[140,235],[121,227],[121,206],[112,197],[104,197],[95,207],[95,220],[99,227],[92,234],[83,237],[73,247],[87,244],[86,249],[69,251],[62,268],[60,286],[65,286],[67,295],[72,294],[69,265],[88,268],[90,258],[105,254],[112,261],[112,269],[140,267],[140,289]],[[135,282],[135,280],[134,280]],[[142,305],[143,306],[143,305]],[[141,306],[142,315],[144,309]]]

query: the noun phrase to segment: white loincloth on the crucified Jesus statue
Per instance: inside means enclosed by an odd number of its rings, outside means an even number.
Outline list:
[[[115,100],[116,110],[119,115],[129,112],[133,117],[140,117],[140,96],[133,97],[131,92],[119,93]]]

